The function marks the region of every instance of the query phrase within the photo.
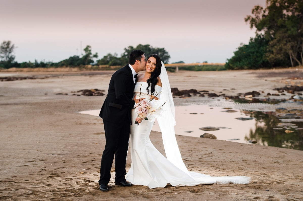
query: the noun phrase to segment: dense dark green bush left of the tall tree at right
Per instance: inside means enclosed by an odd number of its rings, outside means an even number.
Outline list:
[[[270,67],[265,57],[267,53],[268,40],[261,34],[251,38],[248,45],[242,44],[234,52],[234,56],[227,59],[226,69],[259,69]]]

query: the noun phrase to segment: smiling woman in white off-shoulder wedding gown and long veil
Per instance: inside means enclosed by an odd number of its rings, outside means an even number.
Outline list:
[[[141,88],[141,89],[140,89]],[[141,92],[140,92],[141,91]],[[158,94],[161,91],[160,94]],[[195,186],[199,184],[235,183],[248,184],[250,177],[211,177],[206,174],[189,172],[182,161],[175,138],[175,106],[171,95],[168,75],[163,62],[158,55],[151,55],[147,59],[146,71],[138,74],[134,96],[160,101],[164,112],[157,117],[165,148],[163,156],[151,143],[149,134],[153,121],[140,119],[135,109],[132,110],[131,168],[126,174],[126,180],[135,185],[148,186],[150,189],[172,186]],[[135,98],[136,98],[135,97]],[[134,124],[135,120],[139,125]]]

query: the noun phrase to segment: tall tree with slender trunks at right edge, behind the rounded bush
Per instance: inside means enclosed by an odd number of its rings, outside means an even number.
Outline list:
[[[303,65],[303,1],[267,0],[266,8],[255,6],[251,13],[245,21],[269,40],[268,61],[288,57],[292,66]]]

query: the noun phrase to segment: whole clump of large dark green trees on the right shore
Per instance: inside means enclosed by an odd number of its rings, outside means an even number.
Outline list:
[[[267,0],[245,18],[256,36],[227,59],[226,69],[260,69],[303,65],[303,1]]]

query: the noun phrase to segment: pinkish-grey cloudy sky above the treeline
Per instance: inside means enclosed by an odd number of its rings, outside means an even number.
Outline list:
[[[266,0],[0,0],[0,42],[18,62],[58,62],[86,45],[102,58],[125,47],[165,48],[169,62],[225,62],[255,36],[245,23]]]

